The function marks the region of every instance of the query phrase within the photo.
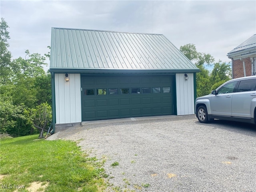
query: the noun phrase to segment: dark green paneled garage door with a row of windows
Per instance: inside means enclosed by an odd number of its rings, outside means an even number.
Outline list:
[[[174,114],[174,76],[82,76],[82,121]]]

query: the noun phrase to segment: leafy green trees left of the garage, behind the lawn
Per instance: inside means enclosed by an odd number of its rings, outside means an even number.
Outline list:
[[[24,136],[39,132],[34,126],[34,121],[40,116],[39,108],[44,105],[48,109],[46,103],[52,103],[51,75],[49,72],[44,72],[44,66],[47,65],[46,58],[50,58],[50,52],[41,56],[38,53],[30,54],[26,50],[24,58],[11,60],[11,53],[8,51],[10,39],[8,28],[4,18],[1,18],[0,132],[7,132],[12,136]],[[42,110],[41,112],[44,114]],[[50,113],[48,122],[51,118]]]

